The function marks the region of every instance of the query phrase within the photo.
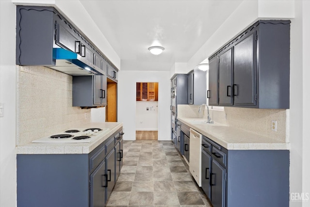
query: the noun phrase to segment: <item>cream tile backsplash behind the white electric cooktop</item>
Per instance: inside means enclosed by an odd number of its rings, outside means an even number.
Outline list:
[[[90,122],[72,106],[72,76],[44,66],[17,66],[16,145]]]

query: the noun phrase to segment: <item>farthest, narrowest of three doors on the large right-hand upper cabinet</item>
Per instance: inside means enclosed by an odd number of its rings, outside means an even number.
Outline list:
[[[218,58],[214,58],[209,63],[209,90],[207,98],[209,105],[218,105]]]

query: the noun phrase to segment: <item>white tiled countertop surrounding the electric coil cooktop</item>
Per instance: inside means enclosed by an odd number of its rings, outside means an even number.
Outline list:
[[[110,130],[91,143],[28,143],[16,146],[15,151],[16,154],[89,154],[122,127],[123,123],[119,122],[89,123],[83,125],[83,128],[109,128]]]

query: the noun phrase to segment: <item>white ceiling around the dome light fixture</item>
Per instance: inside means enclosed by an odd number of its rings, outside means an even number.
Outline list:
[[[121,58],[122,70],[166,71],[188,62],[241,2],[81,0]],[[165,50],[155,56],[148,51],[154,45]]]

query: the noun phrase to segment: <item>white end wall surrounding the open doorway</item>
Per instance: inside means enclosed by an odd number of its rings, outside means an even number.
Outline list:
[[[170,71],[120,71],[118,121],[123,122],[124,140],[136,139],[136,82],[158,82],[158,139],[170,140]]]

